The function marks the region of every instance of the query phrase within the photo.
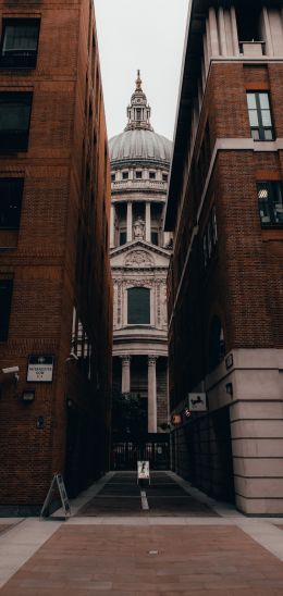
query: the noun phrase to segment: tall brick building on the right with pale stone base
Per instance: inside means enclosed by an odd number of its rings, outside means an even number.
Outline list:
[[[173,464],[247,513],[283,512],[282,181],[282,2],[193,0],[165,220]]]

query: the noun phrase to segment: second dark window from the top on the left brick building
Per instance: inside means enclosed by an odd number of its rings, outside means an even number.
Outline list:
[[[0,92],[0,151],[27,151],[32,92]]]

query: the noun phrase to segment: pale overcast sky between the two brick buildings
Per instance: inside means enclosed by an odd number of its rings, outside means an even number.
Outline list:
[[[94,0],[108,136],[122,133],[140,69],[151,124],[173,139],[189,0]]]

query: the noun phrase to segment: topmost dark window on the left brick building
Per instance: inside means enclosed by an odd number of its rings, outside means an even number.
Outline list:
[[[39,18],[4,18],[0,66],[35,69],[39,35]]]

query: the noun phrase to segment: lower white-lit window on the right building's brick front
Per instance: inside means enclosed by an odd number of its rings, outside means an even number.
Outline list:
[[[262,226],[283,224],[283,184],[280,181],[259,182],[258,208]]]

